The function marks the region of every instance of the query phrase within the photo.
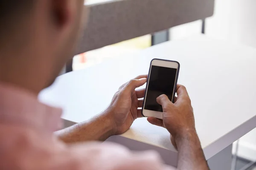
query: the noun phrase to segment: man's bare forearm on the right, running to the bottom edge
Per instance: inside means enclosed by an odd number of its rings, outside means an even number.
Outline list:
[[[178,150],[178,170],[209,170],[195,130],[175,138]]]

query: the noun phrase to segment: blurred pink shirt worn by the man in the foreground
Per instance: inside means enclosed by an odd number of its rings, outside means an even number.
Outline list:
[[[0,84],[0,170],[170,170],[154,151],[134,153],[111,143],[65,144],[53,134],[61,123],[60,108]]]

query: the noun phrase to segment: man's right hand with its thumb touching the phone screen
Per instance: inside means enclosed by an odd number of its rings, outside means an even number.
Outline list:
[[[163,108],[163,120],[148,117],[148,122],[165,127],[171,133],[172,144],[177,148],[176,136],[186,138],[186,136],[196,136],[195,119],[191,100],[183,85],[177,85],[177,100],[172,103],[163,94],[157,97],[157,102]]]

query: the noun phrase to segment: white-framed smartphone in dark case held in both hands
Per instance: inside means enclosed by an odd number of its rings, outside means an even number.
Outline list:
[[[163,108],[156,99],[166,94],[174,102],[179,71],[180,63],[177,61],[152,59],[142,108],[144,117],[163,119]]]

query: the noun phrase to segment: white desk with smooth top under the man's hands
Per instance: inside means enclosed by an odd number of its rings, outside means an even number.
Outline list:
[[[230,166],[231,144],[256,127],[254,48],[204,36],[166,42],[86,70],[64,74],[39,98],[64,108],[63,119],[82,122],[103,111],[122,83],[147,74],[153,58],[180,62],[178,83],[186,85],[191,97],[206,159],[214,164],[214,156],[226,148],[222,154],[227,154],[225,158],[217,156],[218,165]],[[122,136],[109,140],[133,150],[157,150],[167,164],[177,164],[177,152],[167,130],[150,125],[144,118],[137,119]]]

